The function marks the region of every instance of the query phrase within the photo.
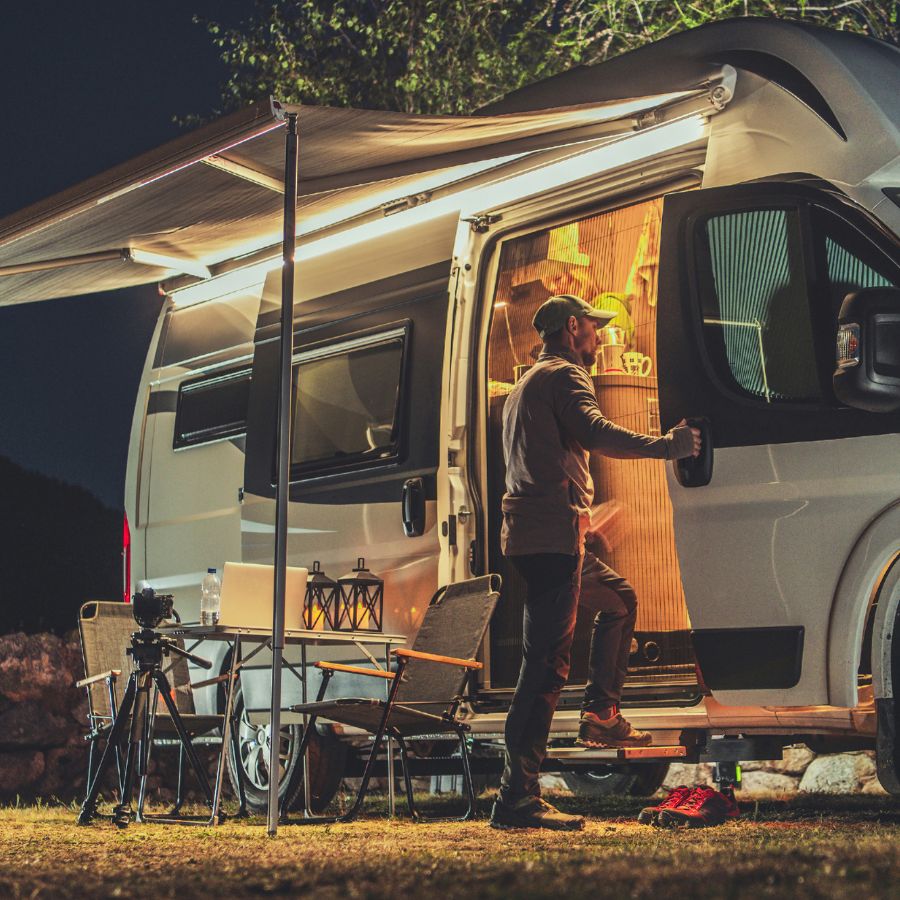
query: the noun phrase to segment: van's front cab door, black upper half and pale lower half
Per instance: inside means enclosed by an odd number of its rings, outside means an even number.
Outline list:
[[[896,415],[831,389],[849,291],[898,284],[896,246],[855,210],[793,184],[669,195],[658,347],[663,431],[710,423],[710,483],[669,466],[700,669],[723,703],[852,705],[829,696],[828,632],[847,558],[900,496]]]

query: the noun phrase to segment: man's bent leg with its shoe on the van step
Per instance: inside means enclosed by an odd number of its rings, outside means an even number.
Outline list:
[[[619,714],[637,619],[634,588],[593,554],[585,557],[582,580],[583,602],[599,611],[591,636],[579,742],[611,746],[649,744],[651,735],[635,730]]]

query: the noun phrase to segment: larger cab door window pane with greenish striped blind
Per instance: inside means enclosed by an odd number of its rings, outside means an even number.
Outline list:
[[[797,210],[729,212],[699,228],[703,334],[719,378],[767,403],[821,401]]]

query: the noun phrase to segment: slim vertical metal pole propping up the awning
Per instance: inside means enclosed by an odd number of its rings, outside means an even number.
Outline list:
[[[281,378],[278,384],[278,468],[275,494],[275,598],[272,612],[272,706],[269,730],[269,835],[278,832],[281,751],[281,658],[291,483],[291,358],[294,352],[294,249],[296,244],[299,140],[297,113],[286,115],[284,142],[284,268],[281,273]],[[306,673],[304,672],[304,677]]]

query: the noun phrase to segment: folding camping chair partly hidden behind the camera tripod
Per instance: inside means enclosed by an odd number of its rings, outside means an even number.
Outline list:
[[[85,677],[76,682],[77,687],[87,688],[88,722],[90,731],[85,735],[89,741],[87,788],[90,790],[95,777],[95,747],[107,737],[112,728],[122,702],[124,685],[131,672],[131,658],[126,653],[131,646],[131,635],[139,630],[134,621],[130,604],[120,602],[91,601],[81,607],[78,618],[81,635],[81,651],[84,657]],[[222,724],[221,716],[201,716],[194,712],[190,673],[187,661],[180,656],[171,656],[163,670],[175,694],[175,707],[181,714],[193,744],[219,744],[221,737],[210,732]],[[216,681],[218,679],[212,679]],[[202,682],[211,683],[211,682]],[[156,746],[175,746],[178,752],[178,786],[175,805],[168,813],[177,815],[184,803],[185,754],[178,733],[165,705],[160,703],[154,715],[153,743]],[[121,796],[124,775],[124,760],[120,748],[115,748],[118,771],[119,793]],[[141,779],[138,794],[138,819],[143,815],[146,798],[146,777]],[[241,798],[243,808],[243,797]]]

